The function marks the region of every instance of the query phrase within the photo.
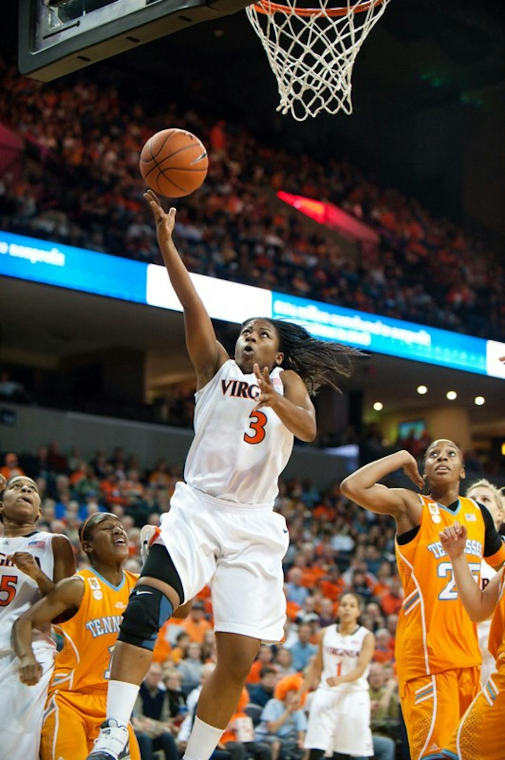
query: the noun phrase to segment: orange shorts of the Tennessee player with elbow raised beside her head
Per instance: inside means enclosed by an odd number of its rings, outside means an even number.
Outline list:
[[[400,691],[412,760],[440,757],[480,686],[480,667],[455,668],[407,681]]]

